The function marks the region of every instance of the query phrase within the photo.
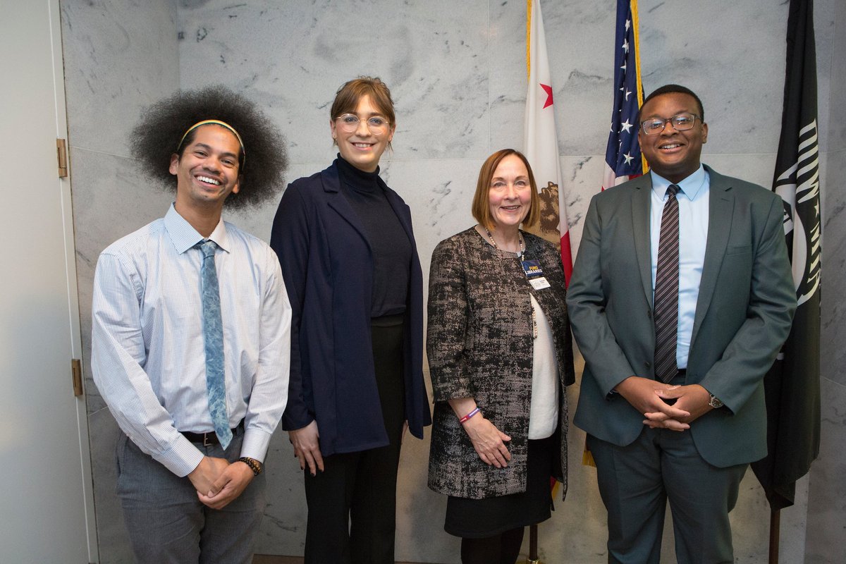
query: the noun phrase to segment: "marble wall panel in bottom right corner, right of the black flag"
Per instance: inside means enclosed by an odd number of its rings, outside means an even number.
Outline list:
[[[843,255],[841,255],[843,257]],[[823,353],[825,358],[825,353]],[[842,370],[842,365],[841,365]],[[811,466],[805,564],[846,561],[846,386],[824,373],[821,381],[820,457]]]

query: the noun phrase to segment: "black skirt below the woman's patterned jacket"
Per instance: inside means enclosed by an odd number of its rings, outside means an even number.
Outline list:
[[[449,496],[443,530],[465,539],[484,539],[546,521],[552,509],[549,479],[557,448],[558,433],[529,441],[525,491],[481,500]]]

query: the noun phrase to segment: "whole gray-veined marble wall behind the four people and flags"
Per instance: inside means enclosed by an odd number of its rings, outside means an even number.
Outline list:
[[[846,46],[838,0],[816,3],[820,61],[821,151],[827,178],[846,172],[843,96]],[[473,222],[470,199],[481,162],[504,146],[521,147],[525,104],[525,2],[521,0],[62,0],[77,271],[83,334],[90,333],[91,281],[98,253],[114,239],[162,216],[170,196],[133,167],[126,139],[141,107],[178,87],[223,83],[259,101],[288,138],[289,178],[326,167],[335,154],[328,107],[338,86],[359,74],[391,87],[398,130],[382,177],[411,206],[428,271],[435,244]],[[543,0],[547,47],[559,130],[563,190],[577,248],[581,219],[602,178],[613,98],[613,0]],[[667,82],[688,85],[706,107],[709,143],[704,161],[717,170],[767,185],[777,148],[787,6],[782,0],[700,3],[640,2],[640,58],[645,90]],[[839,32],[839,33],[838,33]],[[837,39],[835,39],[837,38]],[[839,55],[839,59],[838,59]],[[824,186],[827,190],[828,184]],[[843,285],[843,237],[832,219],[846,206],[827,194],[826,285]],[[263,238],[275,205],[228,215]],[[836,221],[836,220],[835,220]],[[842,222],[841,222],[842,223]],[[840,227],[840,234],[843,228]],[[835,245],[839,245],[834,249]],[[839,274],[836,264],[839,260]],[[832,295],[833,292],[827,293]],[[836,301],[827,302],[831,326]],[[842,324],[841,324],[842,325]],[[836,333],[832,333],[832,336]],[[85,342],[86,354],[89,343]],[[826,560],[843,533],[842,350],[828,342],[824,380],[823,460],[806,481],[796,507],[783,512],[782,561]],[[836,352],[837,351],[837,352]],[[130,561],[113,495],[116,426],[90,376],[86,392],[102,562]],[[569,391],[571,402],[578,385]],[[838,395],[839,394],[839,395]],[[839,398],[834,402],[829,398]],[[541,525],[548,563],[606,561],[605,510],[595,473],[580,465],[585,435],[571,427],[570,492]],[[839,433],[839,435],[838,435]],[[839,439],[842,444],[842,438]],[[827,450],[826,450],[827,449]],[[442,531],[445,500],[426,489],[428,440],[408,439],[400,468],[397,557],[457,562],[458,541]],[[284,433],[267,459],[275,484],[261,528],[259,552],[299,555],[305,539],[302,479]],[[819,474],[819,487],[817,479]],[[831,499],[829,491],[840,488]],[[819,507],[819,511],[817,508]],[[817,515],[819,513],[819,515]],[[766,561],[768,508],[754,477],[744,479],[733,512],[737,561]],[[812,526],[814,519],[827,524]],[[838,528],[839,527],[839,528]],[[673,561],[672,540],[664,546]],[[820,556],[816,556],[820,555]],[[817,558],[812,560],[812,558]]]

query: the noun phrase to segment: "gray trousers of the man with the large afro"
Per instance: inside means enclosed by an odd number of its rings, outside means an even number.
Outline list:
[[[206,456],[238,460],[244,431],[224,452],[220,445],[195,446]],[[179,478],[141,452],[126,435],[117,447],[117,493],[135,560],[142,564],[250,564],[266,505],[265,475],[250,482],[227,507],[211,509],[197,499],[187,477]]]

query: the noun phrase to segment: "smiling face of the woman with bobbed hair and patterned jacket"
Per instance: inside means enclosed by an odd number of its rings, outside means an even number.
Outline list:
[[[494,227],[516,229],[529,214],[531,204],[529,170],[522,159],[508,155],[497,165],[487,192]]]

